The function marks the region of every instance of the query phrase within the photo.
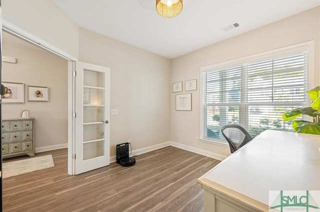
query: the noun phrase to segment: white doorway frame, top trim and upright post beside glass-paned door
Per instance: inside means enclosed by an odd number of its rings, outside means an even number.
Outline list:
[[[68,60],[68,175],[75,175],[75,160],[72,159],[72,154],[75,152],[75,125],[74,125],[74,77],[73,70],[75,69],[75,61],[78,61],[78,58],[59,49],[58,47],[40,39],[39,37],[25,31],[24,29],[19,28],[18,26],[2,19],[2,31],[10,33],[26,42],[32,43],[39,48],[45,49],[51,53],[54,53],[66,60]],[[2,163],[2,162],[1,162]]]

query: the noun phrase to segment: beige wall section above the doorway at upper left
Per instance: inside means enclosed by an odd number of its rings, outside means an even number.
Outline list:
[[[50,0],[1,0],[2,18],[78,58],[79,26]]]

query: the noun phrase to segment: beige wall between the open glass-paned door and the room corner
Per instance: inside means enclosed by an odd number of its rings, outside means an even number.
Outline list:
[[[169,141],[170,60],[80,28],[79,60],[110,68],[110,155],[115,145],[132,149]]]

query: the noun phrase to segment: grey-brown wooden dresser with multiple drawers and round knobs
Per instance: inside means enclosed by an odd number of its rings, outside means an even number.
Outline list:
[[[34,119],[3,119],[1,132],[3,158],[34,156]]]

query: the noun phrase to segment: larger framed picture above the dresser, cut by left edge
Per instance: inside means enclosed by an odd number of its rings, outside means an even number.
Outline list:
[[[24,103],[24,84],[18,82],[2,82],[4,94],[2,103]]]

